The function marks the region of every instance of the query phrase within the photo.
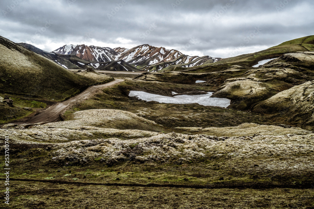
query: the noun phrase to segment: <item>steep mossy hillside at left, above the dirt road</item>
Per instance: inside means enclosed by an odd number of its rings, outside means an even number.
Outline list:
[[[63,100],[95,83],[1,36],[0,77],[2,93],[49,100]]]

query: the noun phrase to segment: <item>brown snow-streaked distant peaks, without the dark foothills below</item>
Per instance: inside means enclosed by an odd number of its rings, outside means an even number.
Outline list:
[[[210,56],[188,56],[177,50],[167,50],[164,47],[154,47],[148,44],[140,45],[132,49],[117,47],[86,46],[86,45],[64,45],[53,53],[62,55],[75,55],[83,60],[91,62],[91,66],[97,70],[100,62],[111,62],[123,60],[141,71],[161,71],[169,66],[192,67],[213,63],[221,58]],[[119,68],[120,69],[120,68]],[[123,67],[122,67],[123,69]]]

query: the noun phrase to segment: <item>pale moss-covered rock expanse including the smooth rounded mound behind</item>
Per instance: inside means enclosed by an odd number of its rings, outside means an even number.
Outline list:
[[[165,134],[112,128],[121,123],[123,126],[131,123],[133,127],[144,123],[147,125],[143,127],[145,130],[148,127],[160,127],[153,121],[126,111],[86,110],[73,113],[70,121],[7,124],[0,129],[0,140],[10,136],[10,143],[15,147],[45,148],[45,163],[50,165],[98,163],[114,166],[130,162],[180,165],[202,159],[251,160],[257,156],[259,159],[281,156],[295,159],[295,156],[299,156],[302,159],[295,162],[302,163],[302,169],[313,169],[310,161],[314,152],[314,134],[300,128],[253,123],[203,130],[186,128],[191,132],[213,135]],[[4,146],[0,147],[2,149]],[[40,152],[40,149],[37,151]],[[286,166],[281,160],[276,163],[282,169]]]

